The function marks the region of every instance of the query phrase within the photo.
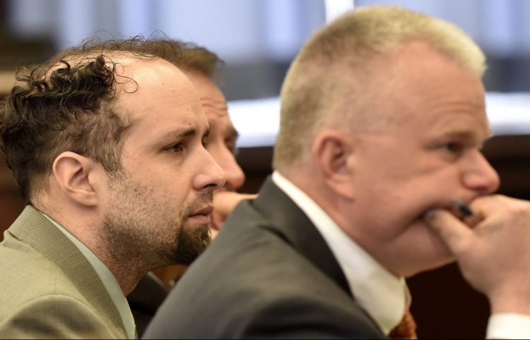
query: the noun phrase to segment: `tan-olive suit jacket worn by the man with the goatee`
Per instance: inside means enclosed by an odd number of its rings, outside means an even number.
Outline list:
[[[95,269],[28,205],[0,243],[0,338],[126,339]]]

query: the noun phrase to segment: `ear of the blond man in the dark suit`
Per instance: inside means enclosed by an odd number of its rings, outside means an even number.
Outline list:
[[[344,198],[353,199],[353,143],[342,133],[324,130],[314,140],[313,157],[324,183]]]

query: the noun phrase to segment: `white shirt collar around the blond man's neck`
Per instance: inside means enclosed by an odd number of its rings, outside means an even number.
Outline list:
[[[410,293],[403,277],[396,277],[329,217],[314,200],[277,171],[272,174],[276,186],[305,212],[335,255],[358,304],[389,334],[410,305]]]

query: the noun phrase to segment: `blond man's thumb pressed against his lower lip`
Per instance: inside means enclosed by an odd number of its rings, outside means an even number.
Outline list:
[[[457,257],[469,248],[469,242],[475,236],[469,226],[447,210],[429,210],[423,220],[430,229],[442,238],[447,247]]]

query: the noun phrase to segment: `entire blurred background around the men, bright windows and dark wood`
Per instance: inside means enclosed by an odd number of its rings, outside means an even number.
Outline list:
[[[484,82],[497,134],[484,153],[500,174],[500,193],[530,198],[529,0],[0,0],[0,94],[14,72],[83,38],[167,35],[215,51],[226,62],[220,87],[240,130],[238,159],[255,192],[270,174],[285,71],[315,29],[346,8],[394,4],[455,23],[488,56]],[[0,159],[0,231],[23,202]],[[1,237],[0,237],[1,238]],[[0,273],[1,274],[1,273]],[[456,265],[408,280],[423,339],[478,339],[488,303]]]

